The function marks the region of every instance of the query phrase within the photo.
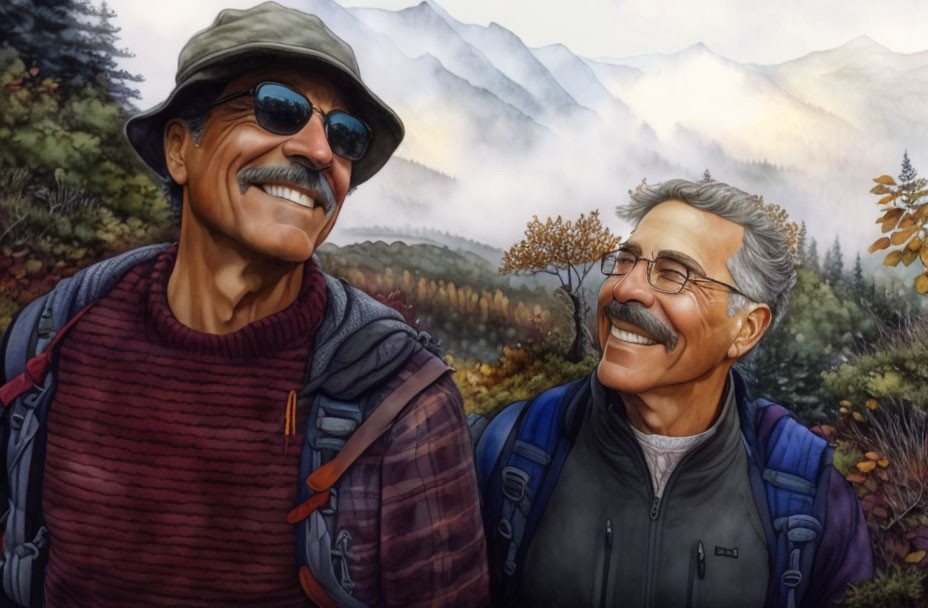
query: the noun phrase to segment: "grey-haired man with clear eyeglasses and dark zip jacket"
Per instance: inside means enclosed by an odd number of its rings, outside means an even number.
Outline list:
[[[872,574],[826,442],[733,365],[786,314],[787,237],[719,182],[643,185],[605,254],[602,358],[477,445],[497,605],[820,607]]]

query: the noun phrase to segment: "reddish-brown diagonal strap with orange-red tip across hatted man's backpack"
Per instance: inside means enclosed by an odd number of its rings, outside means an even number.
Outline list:
[[[384,398],[374,412],[345,442],[335,457],[313,471],[306,485],[314,492],[308,500],[287,514],[287,521],[296,524],[329,501],[330,488],[341,478],[358,457],[389,429],[394,419],[413,398],[428,388],[450,368],[438,357],[431,357],[396,389]],[[335,603],[308,567],[300,568],[300,586],[304,593],[322,608],[334,608]]]

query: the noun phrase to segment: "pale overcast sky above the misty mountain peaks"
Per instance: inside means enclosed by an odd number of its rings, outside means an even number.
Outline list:
[[[345,6],[401,9],[414,0],[341,0]],[[122,42],[135,53],[126,67],[146,78],[143,108],[171,89],[177,54],[223,8],[241,0],[111,0]],[[300,7],[300,0],[281,4]],[[563,43],[587,57],[673,53],[702,42],[742,63],[780,63],[866,35],[900,53],[928,49],[925,0],[441,0],[464,23],[495,21],[530,46]]]

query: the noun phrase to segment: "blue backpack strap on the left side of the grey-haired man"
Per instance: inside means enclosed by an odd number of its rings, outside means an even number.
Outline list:
[[[573,445],[581,418],[576,406],[589,383],[586,376],[510,405],[477,445],[490,571],[504,603],[513,600],[520,565]]]

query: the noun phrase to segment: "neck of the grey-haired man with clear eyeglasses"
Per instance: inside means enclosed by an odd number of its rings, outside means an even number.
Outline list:
[[[686,384],[644,393],[619,392],[628,421],[652,435],[688,437],[707,430],[722,411],[725,382],[731,363]]]

